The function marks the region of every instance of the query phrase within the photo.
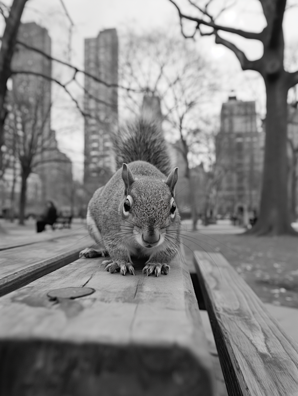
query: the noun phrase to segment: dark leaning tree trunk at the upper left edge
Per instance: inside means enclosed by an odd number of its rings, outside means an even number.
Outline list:
[[[7,91],[7,80],[11,75],[10,64],[15,48],[16,36],[20,25],[21,16],[27,0],[14,0],[1,38],[0,49],[0,177],[3,175],[3,161],[1,147],[4,144],[3,126],[6,117],[4,106]]]

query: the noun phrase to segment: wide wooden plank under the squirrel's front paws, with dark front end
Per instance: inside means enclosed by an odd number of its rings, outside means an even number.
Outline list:
[[[0,394],[210,396],[214,380],[188,269],[110,274],[80,259],[0,298]],[[87,286],[60,303],[47,292]]]

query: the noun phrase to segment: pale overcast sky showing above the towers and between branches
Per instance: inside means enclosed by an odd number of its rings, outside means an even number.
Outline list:
[[[298,0],[293,0],[293,2],[298,4]],[[95,37],[100,30],[116,27],[118,34],[121,34],[127,26],[134,27],[137,31],[149,31],[179,25],[177,11],[168,0],[64,0],[64,3],[74,22],[71,61],[79,68],[83,68],[84,38]],[[221,16],[220,23],[251,31],[260,31],[265,26],[258,0],[238,0],[237,4]],[[69,21],[65,16],[61,1],[29,0],[22,22],[31,21],[48,29],[52,39],[52,55],[65,59]],[[286,13],[284,33],[286,42],[298,41],[298,7]],[[230,39],[231,36],[228,38]],[[235,43],[241,49],[245,49],[249,59],[256,59],[262,54],[262,45],[258,42],[237,38]],[[240,71],[234,55],[223,46],[214,44],[213,37],[198,39],[198,47],[208,53],[208,56],[227,73],[233,70]],[[54,73],[57,75],[60,73],[57,67],[54,67]],[[245,79],[244,73],[241,73],[241,76],[240,79]],[[231,79],[227,89],[237,91],[239,83],[237,78]],[[227,93],[224,92],[223,100],[226,95]],[[245,92],[245,89],[241,89],[239,95],[243,100],[253,99],[249,90]],[[63,106],[60,106],[60,111],[54,112],[52,118],[52,125],[57,129],[60,148],[72,158],[75,173],[81,176],[83,122],[74,112],[70,113],[67,108],[64,111]]]

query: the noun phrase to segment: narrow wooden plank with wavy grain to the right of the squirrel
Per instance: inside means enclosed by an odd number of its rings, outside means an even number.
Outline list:
[[[220,253],[195,265],[228,395],[297,396],[298,344]]]

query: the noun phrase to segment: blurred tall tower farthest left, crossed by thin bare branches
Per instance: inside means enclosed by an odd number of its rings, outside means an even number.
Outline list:
[[[47,29],[35,22],[23,23],[18,31],[18,40],[51,55],[51,38]],[[41,180],[41,199],[36,195],[36,207],[46,200],[53,200],[58,207],[71,204],[72,200],[72,162],[57,146],[55,132],[51,130],[51,80],[30,73],[51,77],[51,61],[38,52],[18,46],[13,55],[12,70],[28,72],[13,74],[10,92],[11,107],[16,107],[15,114],[25,122],[26,114],[22,114],[22,104],[28,114],[26,122],[30,127],[21,130],[24,138],[30,139],[31,131],[35,131],[35,151],[32,163],[36,163],[33,172]],[[31,118],[31,119],[29,119]],[[29,124],[27,124],[29,125]],[[62,189],[63,186],[63,189]],[[68,190],[68,191],[66,191]],[[30,196],[28,191],[28,197]],[[32,194],[31,194],[32,195]],[[28,201],[29,202],[29,201]],[[34,206],[34,203],[32,203]]]

